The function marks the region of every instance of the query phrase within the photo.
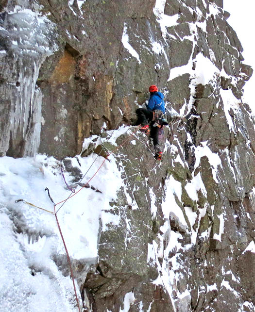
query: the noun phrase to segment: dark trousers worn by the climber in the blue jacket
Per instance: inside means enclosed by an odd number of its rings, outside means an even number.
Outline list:
[[[153,139],[153,145],[154,145],[154,149],[155,149],[155,153],[158,153],[161,151],[160,145],[159,145],[159,140],[158,140],[158,134],[159,134],[159,127],[153,127],[153,111],[148,110],[146,108],[137,108],[136,110],[136,114],[137,114],[137,121],[136,121],[136,125],[149,125],[149,123],[151,122],[151,132],[150,132],[150,136]]]

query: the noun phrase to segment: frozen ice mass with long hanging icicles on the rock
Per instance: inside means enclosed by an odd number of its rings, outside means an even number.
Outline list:
[[[4,99],[11,109],[4,121],[0,152],[5,154],[10,137],[15,143],[18,136],[25,142],[24,154],[32,156],[39,146],[41,123],[42,96],[36,81],[45,58],[57,49],[54,24],[39,13],[16,7],[5,14],[0,27],[6,53],[14,58]]]

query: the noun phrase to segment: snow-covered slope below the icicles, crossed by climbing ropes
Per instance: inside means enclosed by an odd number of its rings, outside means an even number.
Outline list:
[[[96,156],[71,161],[85,173]],[[102,157],[97,158],[84,183],[101,163]],[[43,155],[1,158],[1,311],[76,310],[72,283],[66,276],[69,269],[56,265],[58,259],[63,262],[66,252],[54,215],[25,202],[15,202],[22,197],[54,212],[45,187],[49,188],[55,203],[66,199],[70,193],[60,166],[59,161]],[[64,177],[69,180],[68,174]],[[105,230],[109,222],[118,224],[118,218],[104,210],[109,209],[109,201],[115,199],[121,184],[112,159],[103,164],[100,175],[90,185],[92,188],[73,193],[63,207],[56,206],[56,210],[61,207],[57,216],[69,256],[75,259],[76,265],[83,267],[82,275],[86,274],[89,264],[97,263],[99,231]],[[81,188],[78,186],[76,192]],[[82,279],[77,274],[76,278]]]

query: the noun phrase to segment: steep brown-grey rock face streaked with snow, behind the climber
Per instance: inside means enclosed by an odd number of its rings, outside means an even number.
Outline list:
[[[254,311],[255,122],[242,102],[253,70],[223,0],[0,9],[1,156],[98,153],[84,139],[130,124],[150,84],[179,116],[160,164],[138,131],[135,144],[121,146],[126,134],[117,152],[107,146],[125,187],[98,263],[76,276],[84,311]]]

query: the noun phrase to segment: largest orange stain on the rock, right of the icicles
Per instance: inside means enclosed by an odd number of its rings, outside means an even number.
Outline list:
[[[52,73],[50,82],[53,84],[70,82],[71,77],[74,75],[75,66],[76,61],[74,57],[65,50],[64,55]]]

